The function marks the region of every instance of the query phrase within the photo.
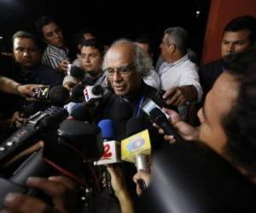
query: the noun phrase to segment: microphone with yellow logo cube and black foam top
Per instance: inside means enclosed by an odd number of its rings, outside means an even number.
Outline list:
[[[128,137],[121,141],[122,160],[136,164],[137,171],[149,171],[148,156],[151,153],[151,144],[143,118],[131,118],[126,124],[126,133]],[[138,184],[143,191],[146,190],[143,180],[138,181]]]

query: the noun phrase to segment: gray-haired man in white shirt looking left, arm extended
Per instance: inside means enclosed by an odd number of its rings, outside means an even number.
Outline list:
[[[197,66],[187,55],[188,34],[182,27],[170,27],[160,44],[165,61],[159,69],[160,88],[166,90],[166,103],[178,107],[180,116],[187,118],[187,104],[201,100],[202,90]]]

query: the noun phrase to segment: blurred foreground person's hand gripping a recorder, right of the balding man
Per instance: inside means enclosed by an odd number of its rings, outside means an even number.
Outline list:
[[[183,122],[178,116],[177,112],[164,108],[164,111],[170,116],[169,121],[172,126],[177,130],[177,133],[183,137],[186,141],[198,140],[198,130],[197,128]],[[156,127],[160,134],[164,135],[165,131],[162,130],[157,124],[153,124]],[[175,142],[175,139],[172,135],[164,135],[166,141],[170,143]]]

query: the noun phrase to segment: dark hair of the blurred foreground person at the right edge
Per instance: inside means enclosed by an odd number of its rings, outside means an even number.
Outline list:
[[[234,164],[256,174],[256,49],[224,58],[224,69],[240,83],[236,103],[224,116],[225,151]]]

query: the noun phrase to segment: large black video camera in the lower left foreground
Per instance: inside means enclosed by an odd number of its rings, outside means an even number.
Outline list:
[[[55,110],[57,112],[53,113]],[[49,115],[49,112],[54,115]],[[3,208],[3,199],[7,193],[30,192],[26,187],[29,176],[48,177],[59,173],[88,187],[86,176],[92,180],[94,174],[90,163],[102,157],[102,133],[92,124],[73,119],[62,121],[66,117],[65,109],[55,107],[38,112],[29,118],[22,130],[4,142],[5,146],[9,146],[10,142],[13,146],[1,155],[0,162],[6,162],[38,140],[44,141],[44,149],[27,158],[9,179],[0,178],[0,209]]]

